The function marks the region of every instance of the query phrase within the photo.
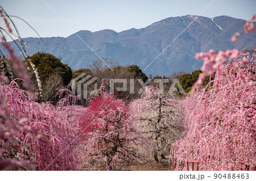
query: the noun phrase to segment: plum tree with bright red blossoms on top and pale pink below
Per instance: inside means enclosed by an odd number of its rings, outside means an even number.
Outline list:
[[[139,163],[143,138],[136,131],[127,103],[101,86],[80,119],[84,169],[122,170]]]

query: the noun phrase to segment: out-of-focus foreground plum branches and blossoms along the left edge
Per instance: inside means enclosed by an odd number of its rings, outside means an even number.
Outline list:
[[[23,79],[23,86],[26,87],[32,99],[35,98],[34,90],[29,83],[29,76],[22,62],[19,61],[19,57],[14,54],[14,49],[7,43],[5,35],[13,35],[13,30],[10,27],[10,16],[0,6],[0,17],[5,24],[5,28],[0,27],[1,32],[1,45],[8,52],[8,56],[13,61],[13,68],[19,71],[19,77]],[[14,25],[14,24],[13,24]],[[14,25],[15,27],[15,25]],[[19,36],[18,30],[16,33]],[[23,41],[20,41],[24,45]],[[23,48],[24,49],[24,48]],[[22,51],[22,49],[21,49]],[[13,72],[11,66],[5,54],[0,49],[0,170],[27,170],[35,169],[35,166],[31,164],[33,162],[30,151],[27,150],[26,143],[22,142],[19,137],[23,134],[28,134],[30,129],[23,125],[22,122],[26,119],[26,115],[22,112],[16,113],[13,108],[9,106],[6,99],[5,84],[9,82],[9,79],[5,76],[6,72],[11,79],[13,79]],[[5,71],[5,69],[7,71]]]

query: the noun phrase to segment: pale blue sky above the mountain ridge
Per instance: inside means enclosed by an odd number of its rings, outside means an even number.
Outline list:
[[[130,28],[143,28],[159,20],[187,14],[199,15],[213,0],[203,1],[79,1],[44,0],[74,31],[99,31],[111,29],[117,32]],[[73,33],[43,3],[42,0],[0,0],[9,13],[25,19],[42,37],[63,36]],[[201,16],[228,15],[250,19],[256,12],[255,0],[216,0]],[[22,37],[36,37],[27,24],[14,19]],[[0,26],[2,26],[2,22]]]

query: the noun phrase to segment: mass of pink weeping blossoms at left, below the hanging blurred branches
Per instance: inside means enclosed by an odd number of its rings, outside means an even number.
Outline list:
[[[66,102],[66,105],[58,104],[56,107],[51,103],[39,104],[31,101],[27,92],[19,89],[14,81],[10,85],[0,84],[0,92],[5,92],[1,94],[0,104],[0,129],[3,140],[0,146],[2,151],[0,169],[6,169],[6,164],[3,163],[6,163],[5,152],[9,150],[9,140],[20,148],[16,150],[16,154],[21,155],[21,158],[12,159],[11,163],[17,162],[16,165],[9,164],[9,166],[27,168],[24,164],[31,162],[36,170],[80,169],[77,120],[84,112],[84,108],[67,104],[70,91],[65,91],[67,98],[63,98],[60,102]],[[16,142],[15,137],[20,142]],[[25,145],[32,154],[31,159],[24,158],[22,145]],[[17,165],[18,163],[23,165]]]

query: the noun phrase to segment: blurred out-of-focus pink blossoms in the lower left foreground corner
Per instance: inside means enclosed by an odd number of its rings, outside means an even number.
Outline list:
[[[5,77],[0,77],[0,82],[6,83],[7,81]],[[2,85],[0,86],[2,88]],[[27,134],[30,131],[30,128],[22,125],[24,120],[26,120],[26,116],[16,113],[7,104],[5,94],[0,94],[0,170],[11,170],[14,167],[35,169],[30,163],[32,159],[26,158],[26,153],[23,151],[24,145],[18,142],[21,136],[20,132]]]

